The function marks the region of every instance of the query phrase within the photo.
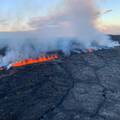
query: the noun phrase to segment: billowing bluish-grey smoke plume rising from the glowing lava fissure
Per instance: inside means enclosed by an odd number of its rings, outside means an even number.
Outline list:
[[[31,32],[1,33],[0,48],[7,48],[0,64],[38,57],[47,51],[100,49],[118,46],[95,26],[98,9],[95,0],[65,0],[64,6],[48,16],[31,18]]]

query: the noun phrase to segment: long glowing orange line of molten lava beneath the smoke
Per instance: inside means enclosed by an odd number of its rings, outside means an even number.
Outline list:
[[[59,58],[59,56],[55,54],[55,55],[51,55],[51,56],[47,56],[47,57],[40,57],[37,59],[26,59],[26,60],[22,60],[22,61],[13,63],[12,67],[21,67],[21,66],[35,64],[35,63],[43,63],[43,62],[52,61],[52,60],[55,60],[58,58]]]

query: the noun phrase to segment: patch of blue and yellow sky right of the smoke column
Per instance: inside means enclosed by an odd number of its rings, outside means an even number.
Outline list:
[[[102,0],[101,0],[102,1]],[[99,2],[101,9],[112,11],[108,14],[101,15],[101,26],[107,33],[120,34],[120,1],[119,0],[103,0]]]

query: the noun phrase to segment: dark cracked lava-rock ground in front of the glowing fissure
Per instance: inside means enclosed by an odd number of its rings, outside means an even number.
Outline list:
[[[120,120],[120,47],[0,72],[0,120]]]

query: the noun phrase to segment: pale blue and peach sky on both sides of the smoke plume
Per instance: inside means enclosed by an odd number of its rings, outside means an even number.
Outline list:
[[[0,0],[0,31],[30,30],[26,24],[33,17],[46,16],[62,6],[64,0]],[[120,1],[98,0],[101,15],[98,27],[112,34],[120,34]],[[103,14],[106,10],[111,10]],[[56,9],[57,10],[57,9]]]

